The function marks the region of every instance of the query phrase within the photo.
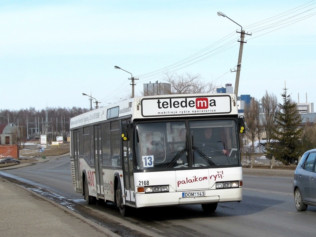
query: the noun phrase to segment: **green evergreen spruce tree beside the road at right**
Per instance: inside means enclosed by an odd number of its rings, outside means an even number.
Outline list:
[[[299,128],[301,115],[298,113],[296,103],[287,95],[287,89],[283,88],[283,104],[279,103],[279,112],[276,115],[276,128],[272,138],[279,142],[271,143],[267,149],[269,156],[274,156],[277,161],[285,165],[297,161],[301,155],[301,135],[303,130]]]

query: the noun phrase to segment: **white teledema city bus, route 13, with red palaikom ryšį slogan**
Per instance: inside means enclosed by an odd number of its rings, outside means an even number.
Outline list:
[[[133,208],[242,200],[234,94],[137,97],[70,119],[72,183],[88,204]],[[213,144],[204,143],[212,130]]]

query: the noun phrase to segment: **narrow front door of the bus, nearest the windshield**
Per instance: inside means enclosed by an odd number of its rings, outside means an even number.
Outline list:
[[[131,123],[131,120],[122,121],[122,125],[127,123]],[[129,133],[131,133],[131,131],[129,131]],[[129,134],[129,137],[129,141],[122,141],[125,202],[135,205],[132,135]]]

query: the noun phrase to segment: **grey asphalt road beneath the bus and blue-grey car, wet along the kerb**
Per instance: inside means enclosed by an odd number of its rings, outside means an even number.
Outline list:
[[[0,174],[34,185],[39,192],[48,190],[43,195],[120,236],[315,236],[316,207],[296,211],[293,177],[244,174],[243,201],[220,203],[210,215],[200,205],[184,205],[144,208],[122,217],[113,204],[85,204],[72,187],[68,156]]]

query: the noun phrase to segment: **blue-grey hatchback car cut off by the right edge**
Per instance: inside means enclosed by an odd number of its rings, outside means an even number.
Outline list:
[[[305,152],[294,172],[293,193],[295,207],[306,211],[316,206],[316,149]]]

